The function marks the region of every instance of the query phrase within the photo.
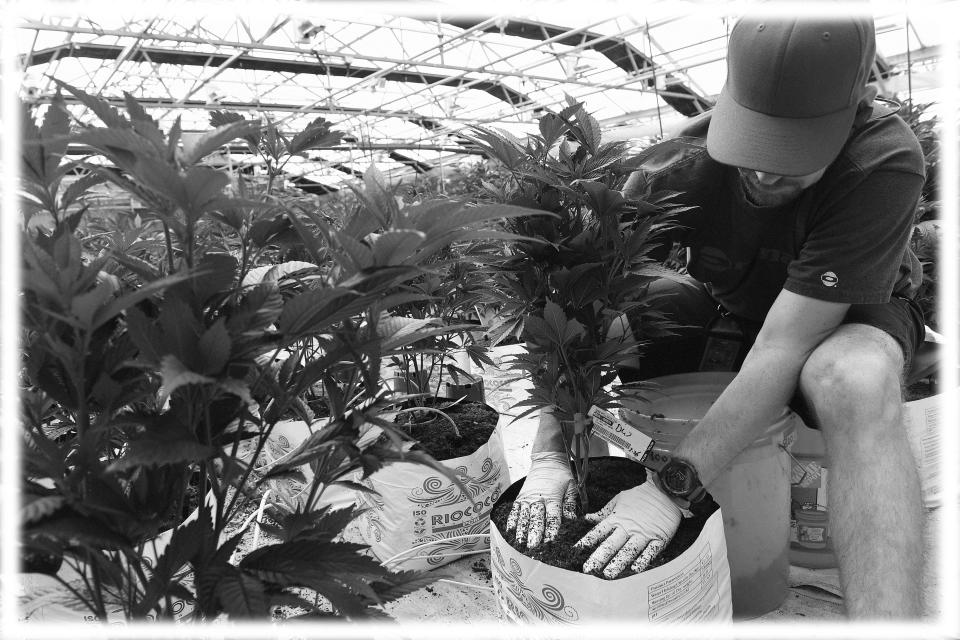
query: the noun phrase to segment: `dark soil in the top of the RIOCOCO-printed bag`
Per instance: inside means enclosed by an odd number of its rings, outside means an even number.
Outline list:
[[[401,431],[417,440],[415,449],[422,449],[437,460],[473,453],[490,439],[500,420],[496,409],[480,402],[463,401],[447,406],[448,403],[440,399],[438,404],[428,406],[435,406],[450,416],[460,431],[459,437],[449,422],[432,411],[423,414],[411,411],[394,418]],[[420,422],[421,418],[427,421]]]

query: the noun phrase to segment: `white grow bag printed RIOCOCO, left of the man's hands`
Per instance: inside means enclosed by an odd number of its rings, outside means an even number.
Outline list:
[[[357,492],[366,507],[358,523],[364,542],[391,569],[428,570],[487,547],[490,511],[509,484],[500,430],[473,453],[440,461],[470,497],[433,469],[394,462],[360,480],[377,494]]]

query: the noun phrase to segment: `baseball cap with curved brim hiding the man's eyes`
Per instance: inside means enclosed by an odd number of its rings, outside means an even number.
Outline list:
[[[826,167],[850,135],[875,54],[868,16],[741,18],[707,152],[786,176]]]

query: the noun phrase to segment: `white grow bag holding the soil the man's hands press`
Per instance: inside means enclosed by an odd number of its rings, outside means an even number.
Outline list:
[[[602,460],[594,458],[593,460]],[[523,479],[497,501],[513,500]],[[717,509],[679,556],[642,573],[604,580],[527,557],[490,527],[493,589],[504,615],[515,622],[582,624],[623,620],[725,622],[733,609],[730,569]]]

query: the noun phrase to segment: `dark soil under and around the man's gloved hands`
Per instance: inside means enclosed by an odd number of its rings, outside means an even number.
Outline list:
[[[643,466],[626,458],[591,459],[587,478],[587,498],[590,501],[590,510],[599,511],[613,496],[642,484],[646,477],[646,469]],[[520,491],[521,485],[521,482],[514,483],[497,502],[490,514],[491,522],[501,534],[506,530],[507,517],[510,515],[513,499]],[[673,536],[673,540],[650,563],[648,569],[666,564],[686,551],[696,541],[707,518],[716,509],[717,506],[714,503],[710,508],[704,509],[703,513],[681,520],[680,527]],[[506,535],[504,535],[504,538],[511,547],[529,558],[561,569],[580,572],[583,569],[583,563],[590,557],[593,550],[576,549],[574,544],[585,536],[594,527],[594,524],[583,517],[564,520],[560,524],[560,532],[557,537],[550,542],[540,544],[534,550],[527,549],[525,545],[517,545]],[[634,572],[627,570],[620,575],[620,578],[631,575],[634,575]]]

